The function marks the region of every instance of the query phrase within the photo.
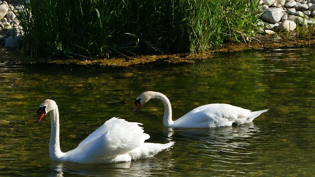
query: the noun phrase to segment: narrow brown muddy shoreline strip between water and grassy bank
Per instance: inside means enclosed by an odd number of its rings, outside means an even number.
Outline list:
[[[314,34],[314,35],[313,35]],[[110,59],[30,59],[20,56],[18,51],[7,50],[0,47],[0,60],[12,60],[18,62],[35,63],[35,62],[48,62],[56,64],[78,64],[78,65],[101,65],[109,67],[117,66],[130,66],[136,64],[145,64],[155,61],[164,63],[192,63],[197,59],[211,59],[214,57],[215,52],[236,52],[250,49],[261,48],[279,48],[284,46],[299,46],[315,44],[315,29],[312,28],[311,32],[307,34],[297,35],[296,33],[266,36],[258,34],[256,38],[251,41],[242,43],[225,43],[221,47],[199,53],[199,54],[160,54],[160,55],[143,55],[138,57],[115,57]]]

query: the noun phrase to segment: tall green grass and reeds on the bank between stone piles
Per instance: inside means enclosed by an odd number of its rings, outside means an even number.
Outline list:
[[[31,0],[18,14],[21,52],[87,58],[201,52],[253,35],[256,7],[257,0]]]

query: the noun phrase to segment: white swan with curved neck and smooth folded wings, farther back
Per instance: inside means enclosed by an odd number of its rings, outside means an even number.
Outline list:
[[[261,113],[268,111],[251,112],[248,109],[232,106],[229,104],[208,104],[193,109],[177,120],[172,120],[172,107],[168,98],[156,91],[146,91],[141,93],[135,100],[135,112],[141,105],[150,99],[157,98],[164,105],[163,124],[166,127],[186,127],[186,128],[209,128],[239,125],[251,122]]]

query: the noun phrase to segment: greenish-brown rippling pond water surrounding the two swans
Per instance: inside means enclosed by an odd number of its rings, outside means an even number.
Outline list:
[[[314,46],[217,54],[195,64],[126,68],[0,61],[0,176],[312,176],[315,173]],[[209,103],[253,111],[239,127],[183,129],[162,125],[150,100],[132,113],[143,91],[164,93],[173,118]],[[51,161],[50,120],[37,108],[54,99],[61,148],[75,148],[111,117],[143,123],[149,142],[176,141],[154,158],[117,164]]]

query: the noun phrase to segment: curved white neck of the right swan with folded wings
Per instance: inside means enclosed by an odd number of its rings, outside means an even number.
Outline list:
[[[163,106],[164,106],[164,116],[163,116],[164,126],[170,127],[171,125],[174,124],[174,121],[172,120],[171,102],[169,101],[169,99],[165,95],[163,95],[161,93],[157,93],[155,98],[162,101]]]

